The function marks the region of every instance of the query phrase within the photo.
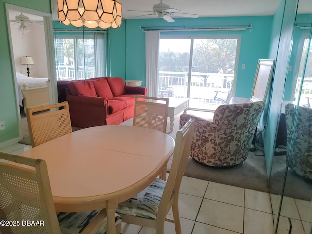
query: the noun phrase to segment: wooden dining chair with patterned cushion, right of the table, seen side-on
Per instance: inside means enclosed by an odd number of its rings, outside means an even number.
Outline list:
[[[192,117],[176,133],[176,145],[167,182],[157,178],[136,196],[118,205],[116,212],[123,222],[155,228],[156,234],[163,234],[165,221],[170,221],[175,224],[176,234],[181,234],[179,190],[190,155],[194,123]],[[166,219],[171,207],[174,220]]]

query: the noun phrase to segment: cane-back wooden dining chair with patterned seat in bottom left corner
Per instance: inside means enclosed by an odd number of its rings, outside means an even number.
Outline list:
[[[0,152],[2,234],[105,233],[106,210],[56,213],[44,160]],[[116,234],[121,217],[115,215]],[[2,224],[2,223],[1,223]]]

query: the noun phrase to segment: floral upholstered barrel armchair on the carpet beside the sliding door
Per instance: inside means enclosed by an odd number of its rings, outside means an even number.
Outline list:
[[[195,117],[190,156],[213,167],[232,167],[243,163],[264,110],[262,101],[220,105],[213,121]],[[180,116],[180,127],[192,115]]]

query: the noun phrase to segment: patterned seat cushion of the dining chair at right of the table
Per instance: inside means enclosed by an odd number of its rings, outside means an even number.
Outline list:
[[[142,192],[120,203],[116,212],[124,215],[156,219],[165,186],[166,181],[157,178]]]

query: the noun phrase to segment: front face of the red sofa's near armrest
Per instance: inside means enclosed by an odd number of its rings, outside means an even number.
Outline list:
[[[67,95],[72,126],[88,128],[106,125],[108,118],[108,99]]]

